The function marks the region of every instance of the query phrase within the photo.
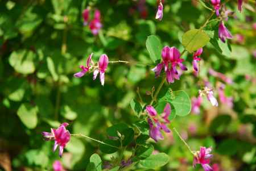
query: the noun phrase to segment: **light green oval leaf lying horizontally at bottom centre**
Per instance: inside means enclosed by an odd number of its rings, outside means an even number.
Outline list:
[[[166,153],[158,153],[139,161],[139,164],[142,165],[143,168],[155,169],[166,165],[168,161],[169,156],[166,155]]]

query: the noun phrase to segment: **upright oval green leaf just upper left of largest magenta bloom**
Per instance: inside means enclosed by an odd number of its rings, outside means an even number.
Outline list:
[[[156,60],[161,59],[161,42],[158,37],[151,35],[147,37],[146,41],[147,51],[150,54],[151,60],[155,63]]]

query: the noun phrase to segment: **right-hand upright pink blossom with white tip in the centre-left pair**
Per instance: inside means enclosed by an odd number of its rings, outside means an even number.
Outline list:
[[[93,80],[95,80],[100,72],[101,85],[104,86],[105,81],[105,71],[109,64],[109,58],[105,54],[101,55],[100,60],[98,60],[98,69],[93,72]]]

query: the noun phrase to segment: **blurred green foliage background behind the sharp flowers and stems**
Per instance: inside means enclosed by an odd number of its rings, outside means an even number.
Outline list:
[[[150,70],[155,64],[146,49],[147,36],[157,35],[163,45],[183,51],[181,36],[199,28],[210,14],[204,5],[211,7],[209,1],[166,0],[159,22],[154,19],[154,0],[0,1],[0,170],[52,170],[55,160],[61,160],[67,170],[85,170],[93,153],[110,161],[112,155],[102,153],[97,143],[75,137],[59,159],[52,152],[53,142],[44,141],[40,132],[68,122],[72,134],[102,140],[106,128],[115,123],[131,126],[137,120],[131,99],[139,99],[139,90],[149,103],[146,91],[161,80]],[[88,6],[101,11],[103,27],[97,36],[83,26],[82,10]],[[212,107],[204,98],[199,115],[178,117],[171,124],[193,150],[212,146],[212,164],[221,170],[256,170],[255,3],[245,3],[241,13],[237,1],[229,1],[226,7],[234,11],[225,22],[234,39],[216,46],[217,23],[205,28],[212,41],[201,55],[200,78],[208,78],[213,86],[220,82],[209,75],[209,68],[232,78],[234,84],[226,85],[225,94],[234,98],[234,106],[230,109],[219,102],[218,108]],[[73,77],[92,52],[94,62],[106,53],[110,61],[150,65],[109,64],[102,87],[98,79],[92,80],[92,73]],[[186,52],[183,58],[188,71],[174,84],[165,84],[160,95],[168,87],[185,90],[189,97],[198,95],[192,54]],[[176,136],[168,134],[151,144],[170,157],[159,170],[193,170],[192,155]],[[126,159],[129,155],[125,152]]]

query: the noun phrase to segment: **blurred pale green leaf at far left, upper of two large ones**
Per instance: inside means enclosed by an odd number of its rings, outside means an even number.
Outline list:
[[[34,52],[21,50],[11,53],[9,62],[16,72],[22,74],[31,74],[35,72],[34,59]]]

